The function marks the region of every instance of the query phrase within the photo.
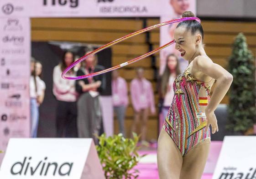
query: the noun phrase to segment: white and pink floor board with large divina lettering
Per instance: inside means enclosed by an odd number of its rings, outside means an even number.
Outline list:
[[[104,179],[104,173],[91,138],[11,138],[0,178]]]

